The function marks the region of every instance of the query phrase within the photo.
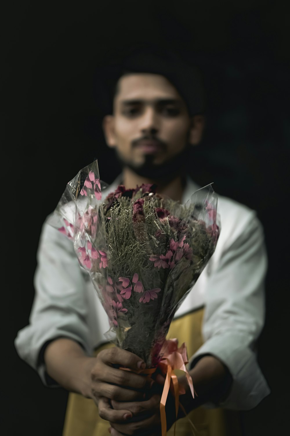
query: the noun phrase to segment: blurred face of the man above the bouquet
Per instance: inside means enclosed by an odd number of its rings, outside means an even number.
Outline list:
[[[137,172],[144,166],[158,170],[188,144],[191,122],[185,102],[162,75],[121,77],[113,116],[106,118],[108,145]]]

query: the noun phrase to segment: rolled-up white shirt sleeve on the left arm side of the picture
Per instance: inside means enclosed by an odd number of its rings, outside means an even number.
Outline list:
[[[89,329],[84,277],[73,243],[44,223],[34,275],[35,295],[29,324],[17,333],[14,344],[20,358],[40,375],[44,385],[58,386],[41,359],[43,347],[53,339],[67,337],[89,354]]]

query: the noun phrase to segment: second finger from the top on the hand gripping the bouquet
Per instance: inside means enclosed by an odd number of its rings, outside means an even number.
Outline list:
[[[131,371],[112,368],[106,364],[97,364],[91,371],[93,381],[103,381],[133,389],[149,389],[154,383],[151,378],[135,374]]]

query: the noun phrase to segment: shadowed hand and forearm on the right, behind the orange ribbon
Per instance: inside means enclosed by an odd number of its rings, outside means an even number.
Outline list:
[[[185,411],[189,413],[206,402],[216,402],[230,388],[231,377],[227,368],[217,358],[205,355],[197,362],[196,366],[191,369],[190,375],[193,379],[193,386],[197,395],[193,399],[190,388],[185,376],[179,377],[178,382],[183,387],[185,394],[180,395],[180,402]],[[138,436],[160,436],[160,400],[161,392],[165,378],[157,372],[155,377],[156,383],[152,386],[153,394],[150,399],[143,402],[124,402],[112,401],[113,409],[119,410],[125,407],[132,412],[132,418],[128,422],[110,421],[111,436],[121,435],[138,435]],[[159,388],[158,388],[159,386]],[[182,409],[179,409],[177,419],[184,417]],[[174,389],[170,384],[166,402],[167,430],[171,428],[176,421]]]

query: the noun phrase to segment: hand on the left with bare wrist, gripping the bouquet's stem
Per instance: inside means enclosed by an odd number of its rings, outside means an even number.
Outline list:
[[[112,347],[88,357],[77,342],[58,338],[47,345],[44,352],[47,373],[63,388],[91,398],[99,408],[101,418],[124,422],[132,417],[126,408],[113,410],[111,400],[141,401],[152,380],[144,375],[118,369],[145,368],[145,363],[133,353]]]

